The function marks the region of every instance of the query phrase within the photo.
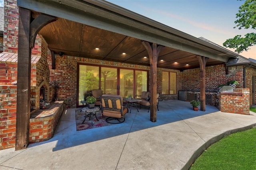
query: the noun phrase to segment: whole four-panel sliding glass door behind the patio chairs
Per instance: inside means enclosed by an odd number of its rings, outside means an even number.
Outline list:
[[[82,105],[84,93],[94,89],[124,98],[140,96],[148,91],[148,71],[79,64],[77,106]]]

